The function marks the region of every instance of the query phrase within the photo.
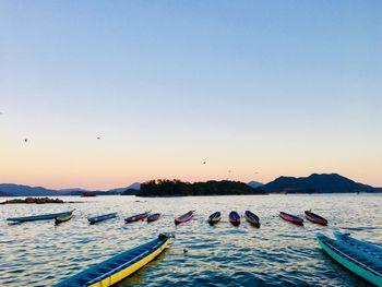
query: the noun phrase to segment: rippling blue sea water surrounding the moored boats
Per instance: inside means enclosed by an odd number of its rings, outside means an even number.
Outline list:
[[[86,266],[175,231],[160,256],[118,286],[366,286],[331,261],[318,247],[315,232],[334,230],[382,244],[381,195],[254,195],[143,199],[135,196],[62,198],[81,203],[0,205],[0,286],[50,286]],[[8,225],[7,217],[75,208],[60,226],[53,222]],[[279,211],[301,215],[312,210],[330,220],[327,227],[295,226]],[[163,213],[155,223],[126,225],[123,218],[151,210]],[[195,210],[194,219],[174,226],[174,218]],[[231,226],[228,213],[258,214],[260,229],[244,220]],[[220,211],[211,227],[206,219]],[[88,225],[89,215],[118,212],[119,217]],[[183,253],[183,249],[188,253]]]

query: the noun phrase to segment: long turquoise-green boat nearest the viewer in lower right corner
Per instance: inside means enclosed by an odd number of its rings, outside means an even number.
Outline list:
[[[354,272],[363,279],[382,286],[382,264],[380,260],[350,244],[331,239],[320,232],[317,240],[321,248],[337,263]]]

